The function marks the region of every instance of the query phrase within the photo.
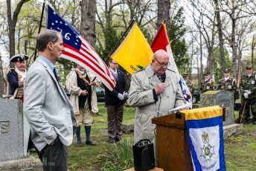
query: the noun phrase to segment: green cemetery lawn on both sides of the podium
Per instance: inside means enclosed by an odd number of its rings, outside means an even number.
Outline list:
[[[76,146],[76,137],[68,147],[68,170],[98,171],[125,170],[133,167],[132,143],[133,133],[124,134],[121,143],[108,142],[106,108],[99,106],[99,114],[92,125],[91,138],[97,146],[88,146],[85,141],[84,128],[81,130],[83,146]],[[235,112],[236,117],[238,112]],[[132,120],[135,109],[125,107],[124,120]],[[243,125],[243,133],[224,141],[226,169],[235,171],[256,170],[256,125]],[[122,156],[122,152],[127,156]],[[36,156],[36,153],[33,153]],[[123,154],[124,155],[124,154]]]

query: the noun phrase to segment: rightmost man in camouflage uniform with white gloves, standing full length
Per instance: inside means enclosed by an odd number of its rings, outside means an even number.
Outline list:
[[[245,124],[250,123],[250,109],[252,110],[253,115],[253,124],[256,124],[256,75],[252,73],[252,66],[246,66],[246,75],[243,75],[240,81],[240,92],[242,95],[242,104],[241,110],[244,112],[243,114],[246,115]],[[241,117],[241,116],[240,116]]]

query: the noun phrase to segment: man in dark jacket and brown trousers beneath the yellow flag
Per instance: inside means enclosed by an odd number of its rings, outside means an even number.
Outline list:
[[[109,91],[105,87],[109,143],[115,143],[121,140],[122,135],[121,125],[124,114],[124,100],[127,97],[127,82],[124,78],[124,72],[118,70],[118,63],[115,60],[109,59],[109,69],[117,81],[113,91]]]

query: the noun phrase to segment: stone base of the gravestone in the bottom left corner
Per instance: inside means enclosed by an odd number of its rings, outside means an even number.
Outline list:
[[[0,171],[18,170],[42,170],[42,163],[38,157],[29,156],[28,158],[13,161],[0,161]]]

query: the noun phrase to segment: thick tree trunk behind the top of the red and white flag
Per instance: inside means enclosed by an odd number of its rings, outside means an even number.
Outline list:
[[[161,22],[165,22],[167,34],[169,32],[169,23],[170,23],[170,0],[158,0],[157,1],[157,29],[159,29]]]

